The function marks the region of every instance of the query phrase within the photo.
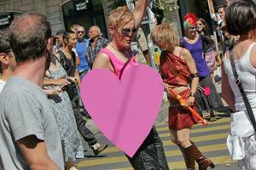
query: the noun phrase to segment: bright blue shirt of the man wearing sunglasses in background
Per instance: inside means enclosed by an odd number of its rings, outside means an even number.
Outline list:
[[[89,70],[89,65],[86,58],[89,42],[90,42],[89,39],[85,39],[85,38],[83,42],[77,42],[76,50],[80,59],[80,65],[77,66],[79,72]]]

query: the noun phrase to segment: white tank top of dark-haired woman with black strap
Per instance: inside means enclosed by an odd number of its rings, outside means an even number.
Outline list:
[[[247,98],[252,106],[252,108],[256,108],[256,68],[250,62],[250,54],[256,42],[250,45],[247,49],[247,53],[241,57],[241,59],[235,60],[236,71],[241,81],[241,86],[247,94]],[[256,56],[252,56],[256,57]],[[229,77],[230,87],[232,88],[235,94],[236,101],[236,111],[242,111],[245,109],[245,105],[243,99],[241,97],[241,93],[239,91],[238,86],[235,82],[235,77],[233,75],[230,60],[224,58],[224,71]]]

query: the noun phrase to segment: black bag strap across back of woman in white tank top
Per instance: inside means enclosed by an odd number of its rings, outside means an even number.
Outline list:
[[[247,108],[247,113],[248,113],[248,116],[253,124],[253,129],[254,131],[256,132],[256,122],[255,122],[255,117],[253,115],[253,109],[249,103],[249,100],[247,99],[247,94],[244,92],[242,86],[241,86],[241,82],[240,82],[240,79],[239,79],[239,76],[236,72],[236,65],[235,65],[235,62],[234,62],[234,59],[233,59],[233,55],[232,53],[230,52],[230,65],[231,65],[231,68],[232,68],[232,71],[233,71],[233,74],[234,74],[234,77],[235,77],[235,82],[240,90],[240,93],[241,93],[241,97],[243,99],[243,102],[244,102],[244,105],[246,106]]]

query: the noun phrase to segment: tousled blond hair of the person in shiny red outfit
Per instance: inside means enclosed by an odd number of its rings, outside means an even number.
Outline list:
[[[167,24],[155,26],[150,37],[155,45],[171,52],[175,46],[179,46],[180,44],[177,30],[173,26]]]

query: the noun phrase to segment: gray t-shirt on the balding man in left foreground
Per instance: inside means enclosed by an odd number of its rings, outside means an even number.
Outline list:
[[[0,156],[4,169],[29,169],[17,140],[35,135],[49,157],[64,169],[61,139],[49,101],[40,87],[11,77],[0,94]]]

